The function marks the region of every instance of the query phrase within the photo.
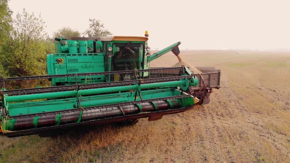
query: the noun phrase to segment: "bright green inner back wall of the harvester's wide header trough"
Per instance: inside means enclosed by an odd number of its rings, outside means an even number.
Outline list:
[[[158,90],[144,90],[141,92],[142,98],[152,99],[160,97],[171,97],[174,95],[180,95],[180,91],[175,89],[158,89]],[[94,96],[80,97],[82,107],[91,107],[106,104],[116,104],[128,101],[134,101],[135,92],[123,92],[123,93],[111,93]],[[21,102],[21,103],[10,103],[9,115],[15,116],[20,114],[32,114],[39,112],[50,112],[64,109],[73,109],[74,105],[77,106],[76,98],[65,98],[35,102]]]

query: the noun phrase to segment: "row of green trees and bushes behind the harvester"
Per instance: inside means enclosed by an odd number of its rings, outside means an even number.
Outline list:
[[[41,16],[25,9],[11,18],[8,0],[0,1],[0,76],[33,76],[46,74],[46,54],[54,53],[54,40],[48,38]],[[89,19],[88,37],[112,35],[99,20]],[[55,37],[80,37],[81,33],[63,27]]]

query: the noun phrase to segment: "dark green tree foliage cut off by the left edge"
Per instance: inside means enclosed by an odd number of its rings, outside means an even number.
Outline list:
[[[4,68],[4,51],[8,43],[9,33],[12,30],[12,11],[8,7],[8,0],[0,1],[0,76],[7,76]]]

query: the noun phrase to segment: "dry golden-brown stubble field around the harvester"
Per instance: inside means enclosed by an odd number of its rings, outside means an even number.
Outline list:
[[[181,52],[222,71],[208,105],[135,126],[0,138],[1,162],[290,162],[290,54]],[[151,66],[171,66],[173,54]]]

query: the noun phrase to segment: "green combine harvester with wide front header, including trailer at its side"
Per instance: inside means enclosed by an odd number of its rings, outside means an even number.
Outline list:
[[[81,125],[136,123],[161,119],[209,102],[219,88],[220,71],[203,67],[150,68],[149,63],[172,51],[177,42],[150,54],[147,37],[108,36],[56,38],[55,54],[47,55],[46,76],[1,77],[2,136],[54,133]],[[6,90],[11,81],[48,79],[50,87]],[[45,134],[44,134],[45,135]]]

